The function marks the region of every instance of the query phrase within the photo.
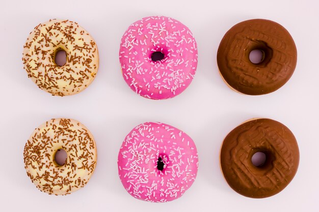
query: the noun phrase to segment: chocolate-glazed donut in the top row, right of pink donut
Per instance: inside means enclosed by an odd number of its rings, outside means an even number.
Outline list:
[[[254,64],[249,55],[262,52]],[[280,24],[264,19],[237,23],[223,37],[217,52],[217,64],[226,84],[238,93],[263,95],[283,86],[297,65],[293,38]]]

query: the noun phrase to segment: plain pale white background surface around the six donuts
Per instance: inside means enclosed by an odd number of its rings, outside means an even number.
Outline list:
[[[317,1],[10,1],[0,5],[0,210],[1,211],[319,211],[319,4]],[[132,22],[145,16],[173,17],[193,32],[199,63],[195,79],[179,96],[163,101],[136,95],[124,82],[118,59],[120,39]],[[23,70],[23,44],[32,29],[50,18],[70,19],[95,39],[100,66],[82,93],[52,97]],[[221,79],[216,53],[234,24],[265,18],[282,24],[293,36],[298,64],[276,92],[245,96]],[[23,147],[33,130],[50,118],[68,117],[93,133],[98,162],[83,189],[67,196],[40,192],[26,176]],[[268,117],[295,134],[299,170],[279,194],[250,199],[234,192],[219,166],[220,145],[229,131],[253,117]],[[131,197],[117,172],[117,154],[126,134],[147,121],[186,132],[199,154],[193,186],[169,203]]]

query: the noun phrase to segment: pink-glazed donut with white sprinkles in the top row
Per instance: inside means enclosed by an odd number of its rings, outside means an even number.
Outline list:
[[[124,33],[119,52],[122,75],[138,95],[169,99],[183,92],[197,68],[197,44],[190,29],[165,17],[145,17]]]

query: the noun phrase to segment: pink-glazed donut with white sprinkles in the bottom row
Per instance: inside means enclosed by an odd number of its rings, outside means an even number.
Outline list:
[[[194,141],[163,123],[143,123],[124,139],[118,171],[125,190],[149,202],[167,202],[187,191],[197,175]]]

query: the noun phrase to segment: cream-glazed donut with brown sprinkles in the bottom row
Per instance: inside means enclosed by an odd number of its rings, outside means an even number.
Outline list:
[[[55,160],[64,149],[64,165]],[[67,195],[84,187],[96,165],[96,145],[90,131],[73,119],[51,119],[36,128],[24,146],[26,174],[45,193]]]

